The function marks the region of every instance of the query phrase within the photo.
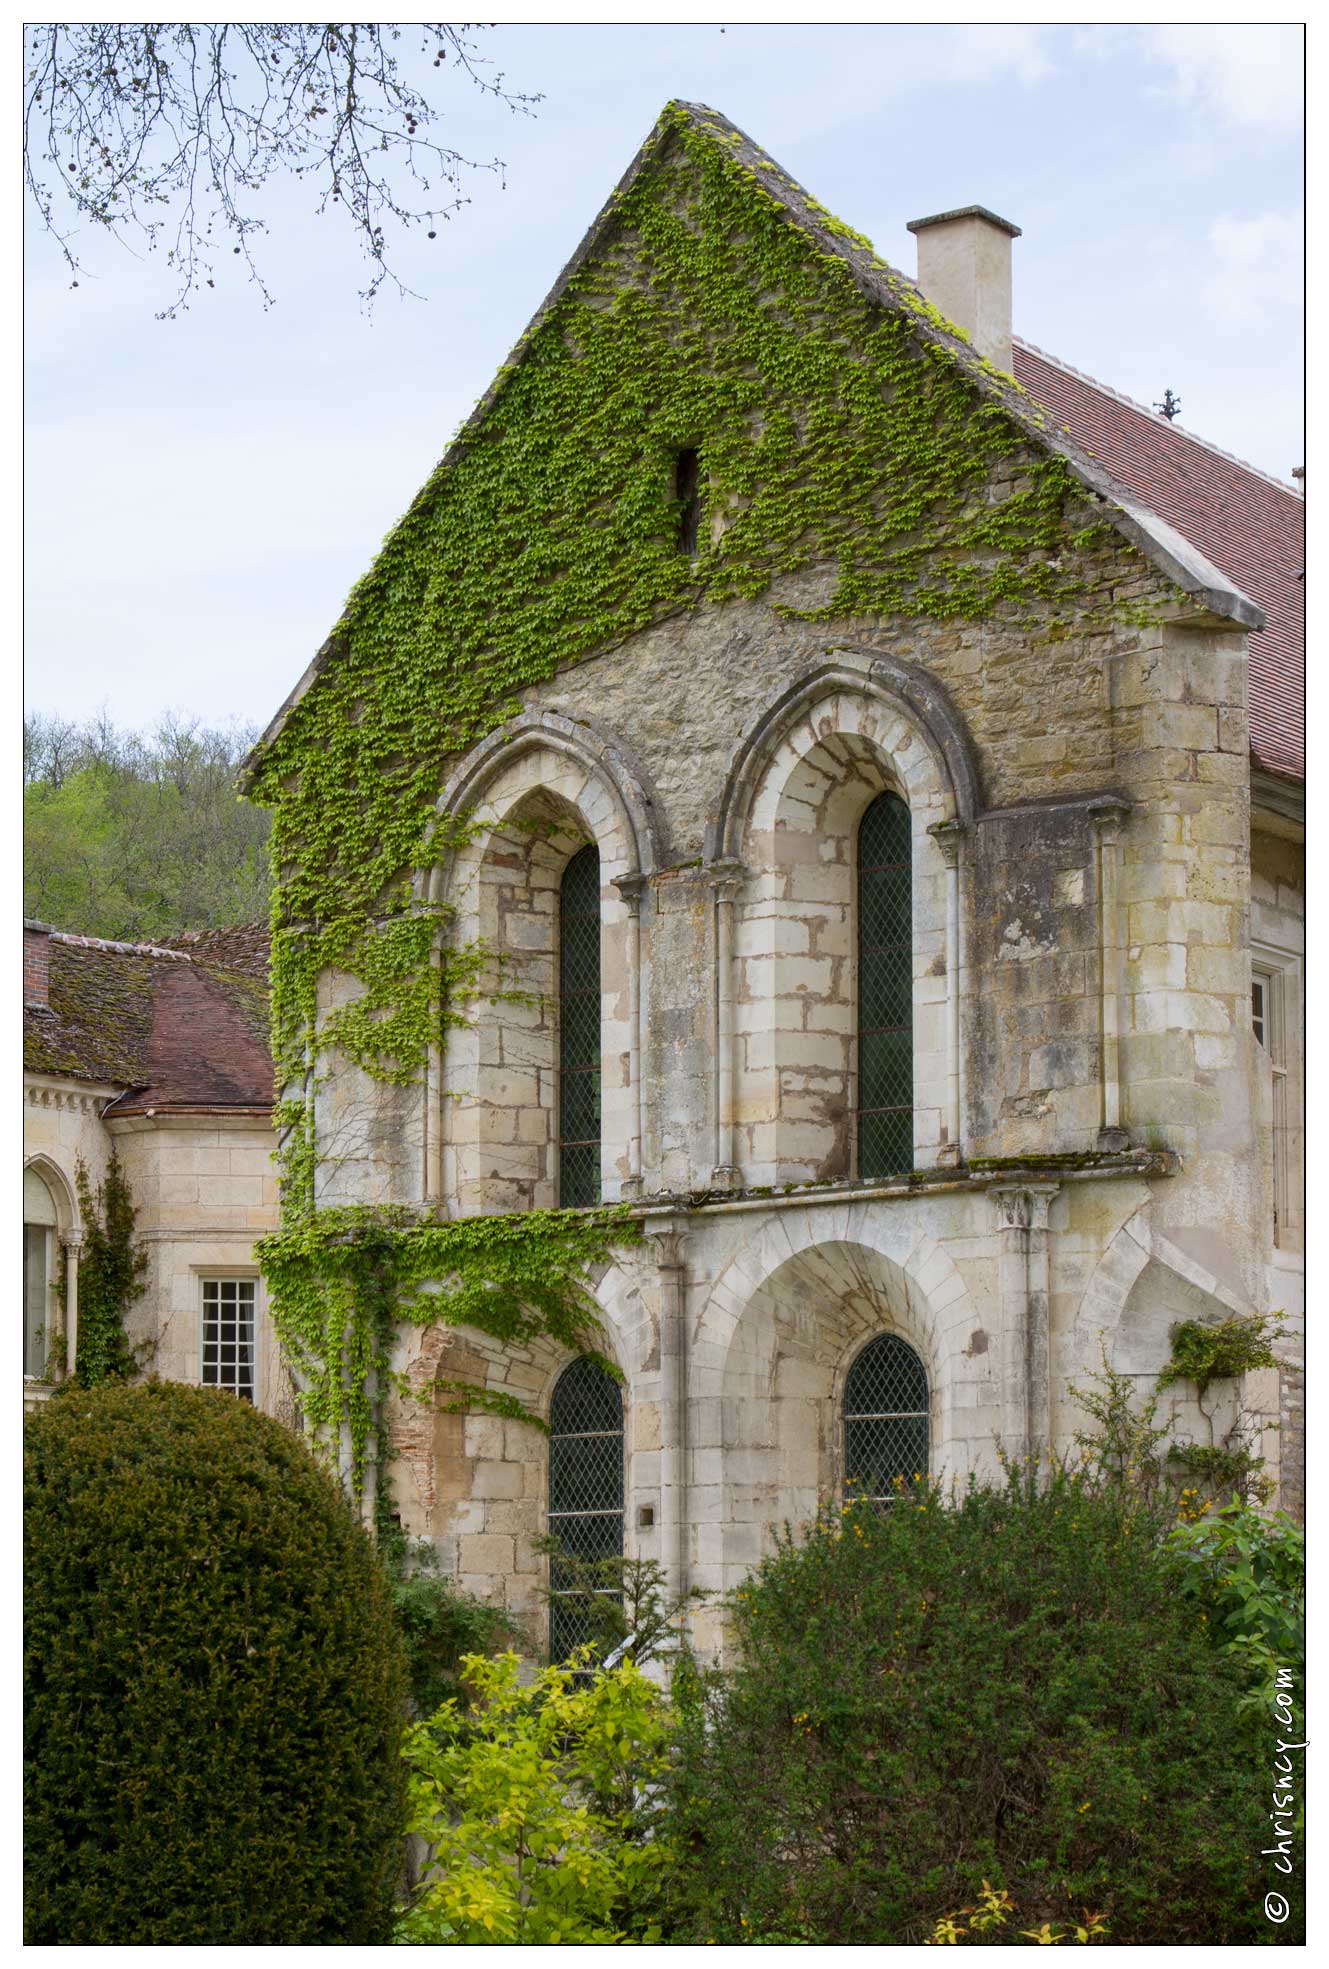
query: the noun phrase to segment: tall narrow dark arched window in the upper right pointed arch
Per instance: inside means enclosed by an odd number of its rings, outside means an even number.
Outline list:
[[[910,809],[878,794],[858,823],[858,1175],[914,1168]]]

